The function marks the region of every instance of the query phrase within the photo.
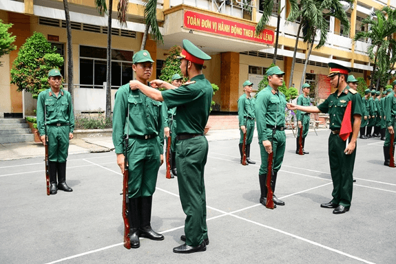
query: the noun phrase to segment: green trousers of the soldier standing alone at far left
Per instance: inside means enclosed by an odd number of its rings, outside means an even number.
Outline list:
[[[69,155],[70,126],[47,126],[48,159],[64,163]]]

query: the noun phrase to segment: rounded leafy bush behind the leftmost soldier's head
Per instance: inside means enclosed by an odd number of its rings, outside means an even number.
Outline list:
[[[40,91],[48,89],[48,72],[63,65],[63,58],[57,54],[45,36],[34,32],[19,49],[11,69],[11,83],[18,91],[29,91],[37,98]]]

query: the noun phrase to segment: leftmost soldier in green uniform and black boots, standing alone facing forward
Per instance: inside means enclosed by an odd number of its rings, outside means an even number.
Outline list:
[[[48,169],[50,173],[50,194],[57,190],[72,192],[66,184],[66,159],[69,140],[73,138],[74,113],[72,98],[68,91],[61,89],[62,76],[59,69],[48,73],[51,88],[42,91],[37,99],[37,129],[41,142],[45,145],[48,136]],[[58,182],[56,183],[56,173]]]

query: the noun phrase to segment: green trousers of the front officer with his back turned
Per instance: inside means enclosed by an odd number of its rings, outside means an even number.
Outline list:
[[[204,170],[209,144],[205,135],[176,142],[176,168],[180,201],[186,214],[187,245],[200,245],[207,239]]]

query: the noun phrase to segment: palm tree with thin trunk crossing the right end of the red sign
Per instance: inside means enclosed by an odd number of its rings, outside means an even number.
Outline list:
[[[276,1],[276,2],[278,3],[278,1]],[[289,17],[294,17],[295,13],[298,12],[297,0],[289,0],[289,3],[291,6]],[[273,4],[274,4],[274,0],[263,0],[262,1],[262,8],[263,8],[262,17],[256,25],[256,31],[255,31],[256,35],[259,35],[265,29],[265,26],[267,25],[267,23],[269,21],[269,17],[271,17],[271,14],[272,14]],[[278,15],[277,15],[278,20],[277,20],[277,26],[276,26],[276,36],[275,36],[275,46],[274,46],[275,50],[273,52],[273,61],[272,61],[273,64],[276,64],[276,54],[278,53],[280,14],[282,13],[283,9],[284,9],[284,6],[282,8],[280,8],[280,6],[278,7]]]

